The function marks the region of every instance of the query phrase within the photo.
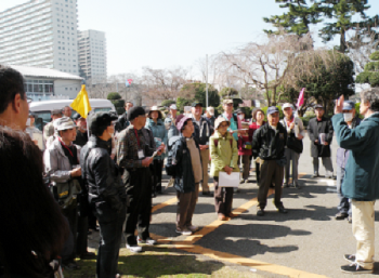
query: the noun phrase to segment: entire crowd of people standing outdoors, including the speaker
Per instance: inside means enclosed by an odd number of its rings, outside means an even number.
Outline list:
[[[325,117],[324,107],[316,105],[316,117],[308,125],[313,177],[318,176],[322,157],[326,176],[335,178],[330,158],[334,131],[340,146],[336,219],[352,222],[357,240],[356,253],[345,255],[351,264],[341,267],[349,273],[373,272],[374,203],[379,198],[374,186],[379,174],[379,91],[366,90],[361,97],[364,120],[356,117],[354,103],[341,96],[331,120]],[[36,115],[29,112],[29,101],[23,76],[0,66],[0,169],[4,172],[0,277],[51,277],[60,265],[77,269],[76,257],[95,257],[87,248],[90,228],[100,231],[97,277],[119,277],[122,234],[131,252],[141,252],[142,243],[156,244],[149,235],[152,198],[164,194],[164,169],[177,190],[175,233],[180,235],[198,230],[192,220],[200,187],[204,197],[213,197],[220,221],[235,216],[232,208],[237,187],[224,186],[221,173],[241,173],[238,183],[247,183],[253,162],[258,216],[265,214],[270,187],[275,188],[274,204],[279,213],[288,213],[282,201],[283,188],[301,188],[298,164],[305,128],[291,104],[283,105],[283,119],[272,106],[266,115],[256,108],[250,121],[244,110],[234,111],[232,100],[223,101],[224,111],[219,117],[213,107],[206,107],[202,114],[200,102],[183,115],[173,104],[166,119],[157,106],[146,111],[132,102],[126,103],[120,117],[99,111],[84,118],[64,107],[51,111],[52,121],[43,129],[40,147],[31,135],[41,132],[34,127]],[[30,233],[21,235],[21,230]],[[12,252],[14,248],[18,252]]]

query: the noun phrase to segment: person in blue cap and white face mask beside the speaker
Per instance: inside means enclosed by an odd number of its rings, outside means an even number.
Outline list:
[[[355,129],[361,123],[361,119],[355,117],[355,105],[351,101],[345,101],[342,108],[343,120],[349,129]],[[341,186],[345,174],[345,166],[350,156],[350,150],[339,147],[337,149],[337,196],[339,203],[337,206],[338,213],[336,220],[348,219],[352,223],[351,200],[342,195]]]

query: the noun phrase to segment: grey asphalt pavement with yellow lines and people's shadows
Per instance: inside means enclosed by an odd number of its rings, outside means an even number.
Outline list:
[[[334,140],[334,164],[336,149]],[[330,189],[335,181],[310,177],[313,166],[308,136],[299,172],[303,175],[302,189],[284,190],[283,202],[289,209],[288,214],[279,214],[275,210],[271,196],[265,216],[256,216],[258,187],[252,174],[250,183],[244,184],[234,195],[233,209],[239,208],[235,211],[239,213],[238,217],[218,221],[213,198],[200,195],[193,220],[193,224],[201,228],[199,235],[178,236],[174,225],[175,191],[168,188],[154,199],[154,204],[160,206],[160,209],[155,208],[151,231],[161,243],[177,243],[178,248],[188,252],[254,268],[258,273],[263,272],[261,274],[265,277],[347,277],[349,275],[342,274],[339,267],[347,264],[342,255],[355,251],[351,224],[334,219],[338,198]],[[325,173],[323,167],[319,172]],[[376,257],[379,257],[378,252]]]

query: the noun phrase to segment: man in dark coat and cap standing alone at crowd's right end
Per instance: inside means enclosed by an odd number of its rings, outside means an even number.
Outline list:
[[[330,119],[324,117],[325,109],[322,105],[315,106],[316,118],[310,120],[308,124],[308,134],[311,140],[311,156],[313,157],[313,175],[318,176],[318,158],[323,160],[325,167],[325,177],[334,178],[330,144],[334,134],[334,128]]]

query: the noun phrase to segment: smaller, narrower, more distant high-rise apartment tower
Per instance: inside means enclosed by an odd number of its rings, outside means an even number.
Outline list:
[[[78,31],[80,76],[92,82],[104,82],[106,78],[105,32],[96,30]]]

